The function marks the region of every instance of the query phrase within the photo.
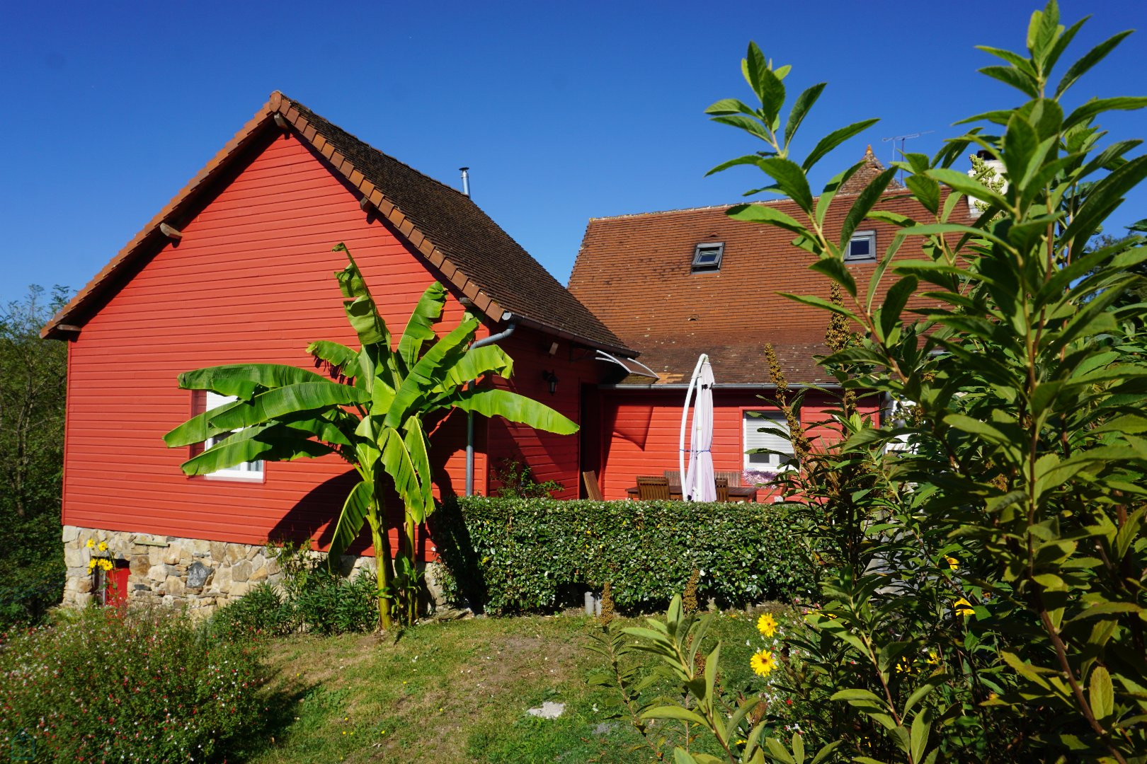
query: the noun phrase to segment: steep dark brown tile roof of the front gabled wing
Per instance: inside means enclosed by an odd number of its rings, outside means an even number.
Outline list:
[[[556,334],[632,354],[469,197],[372,148],[279,92],[272,93],[192,182],[53,317],[42,334],[58,337],[99,310],[118,285],[166,243],[161,225],[197,214],[212,186],[227,181],[232,159],[267,132],[280,129],[275,125],[280,115],[284,125],[326,157],[440,271],[442,279],[474,300],[477,309],[494,321],[513,313]]]

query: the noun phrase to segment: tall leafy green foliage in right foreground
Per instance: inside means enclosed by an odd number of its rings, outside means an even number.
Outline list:
[[[900,228],[867,285],[843,262],[849,223],[840,236],[824,223],[855,168],[813,199],[806,172],[819,147],[797,164],[777,133],[787,68],[773,71],[751,46],[743,66],[760,108],[735,120],[728,102],[710,110],[768,145],[723,167],[757,166],[768,190],[804,212],[732,214],[790,230],[841,290],[835,304],[791,296],[858,334],[822,367],[845,391],[896,405],[877,424],[842,396],[830,423],[838,442],[785,476],[818,548],[837,550],[822,558],[822,602],[782,660],[786,688],[811,718],[787,747],[767,716],[750,728],[701,714],[727,761],[802,761],[805,747],[837,742],[820,753],[913,764],[1145,761],[1147,306],[1128,298],[1144,284],[1136,269],[1147,237],[1089,243],[1147,176],[1147,157],[1132,155],[1141,141],[1109,137],[1095,119],[1147,99],[1071,101],[1071,86],[1128,34],[1056,80],[1082,24],[1060,25],[1053,0],[1032,15],[1024,53],[984,48],[1006,65],[981,71],[1020,90],[1021,103],[961,123],[975,126],[935,157],[906,155],[845,202],[846,221]],[[1006,186],[952,167],[969,145],[1002,164]],[[919,219],[879,210],[897,170]],[[972,223],[958,213],[966,197],[985,203]],[[895,257],[906,241],[923,258]],[[919,291],[933,307],[907,309]],[[658,633],[639,636],[672,662],[686,627],[671,609]],[[717,759],[679,750],[677,761]]]

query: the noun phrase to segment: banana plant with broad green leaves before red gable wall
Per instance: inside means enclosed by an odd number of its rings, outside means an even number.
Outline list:
[[[334,251],[346,253],[348,265],[335,277],[360,347],[319,340],[306,351],[329,364],[336,378],[267,363],[185,372],[181,388],[235,400],[188,419],[164,441],[179,448],[223,436],[181,465],[189,475],[256,459],[334,454],[350,463],[359,482],[335,523],[328,564],[337,566],[364,523],[369,526],[379,570],[379,625],[390,629],[396,615],[406,623],[416,616],[414,533],[435,510],[427,417],[459,409],[559,434],[572,434],[578,426],[517,393],[469,385],[486,375],[509,377],[514,362],[497,345],[471,346],[479,322],[469,313],[450,333],[437,336],[435,324],[446,302],[446,290],[437,282],[422,294],[396,347],[346,245]],[[405,510],[393,551],[384,502],[388,478]]]

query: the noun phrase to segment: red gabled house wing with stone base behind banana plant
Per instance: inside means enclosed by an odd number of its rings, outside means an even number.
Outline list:
[[[163,434],[205,405],[179,389],[189,369],[241,362],[306,367],[315,339],[356,345],[333,277],[345,242],[384,318],[400,332],[435,279],[479,337],[510,332],[510,380],[579,420],[585,389],[609,379],[599,351],[632,356],[601,321],[467,196],[389,157],[286,96],[271,100],[45,328],[69,342],[63,481],[65,601],[101,591],[89,538],[130,568],[132,598],[193,606],[275,575],[268,537],[329,533],[348,488],[337,458],[256,464],[188,478]],[[556,385],[551,380],[557,379]],[[459,415],[431,436],[442,493],[465,490]],[[576,497],[579,440],[481,419],[474,489],[502,458]],[[432,543],[423,541],[427,557]]]

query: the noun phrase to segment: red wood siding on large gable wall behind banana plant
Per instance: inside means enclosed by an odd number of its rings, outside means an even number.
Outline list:
[[[188,449],[161,440],[190,413],[181,371],[223,363],[304,368],[314,339],[357,346],[333,271],[345,242],[391,330],[401,333],[431,268],[380,222],[320,157],[279,137],[84,326],[69,354],[63,522],[259,543],[311,535],[353,481],[336,457],[265,465],[264,482],[187,478]],[[442,326],[463,313],[451,297]],[[482,330],[485,333],[485,329]],[[432,438],[443,485],[461,493],[465,420]],[[485,490],[485,459],[476,458]],[[328,530],[329,533],[329,530]]]

